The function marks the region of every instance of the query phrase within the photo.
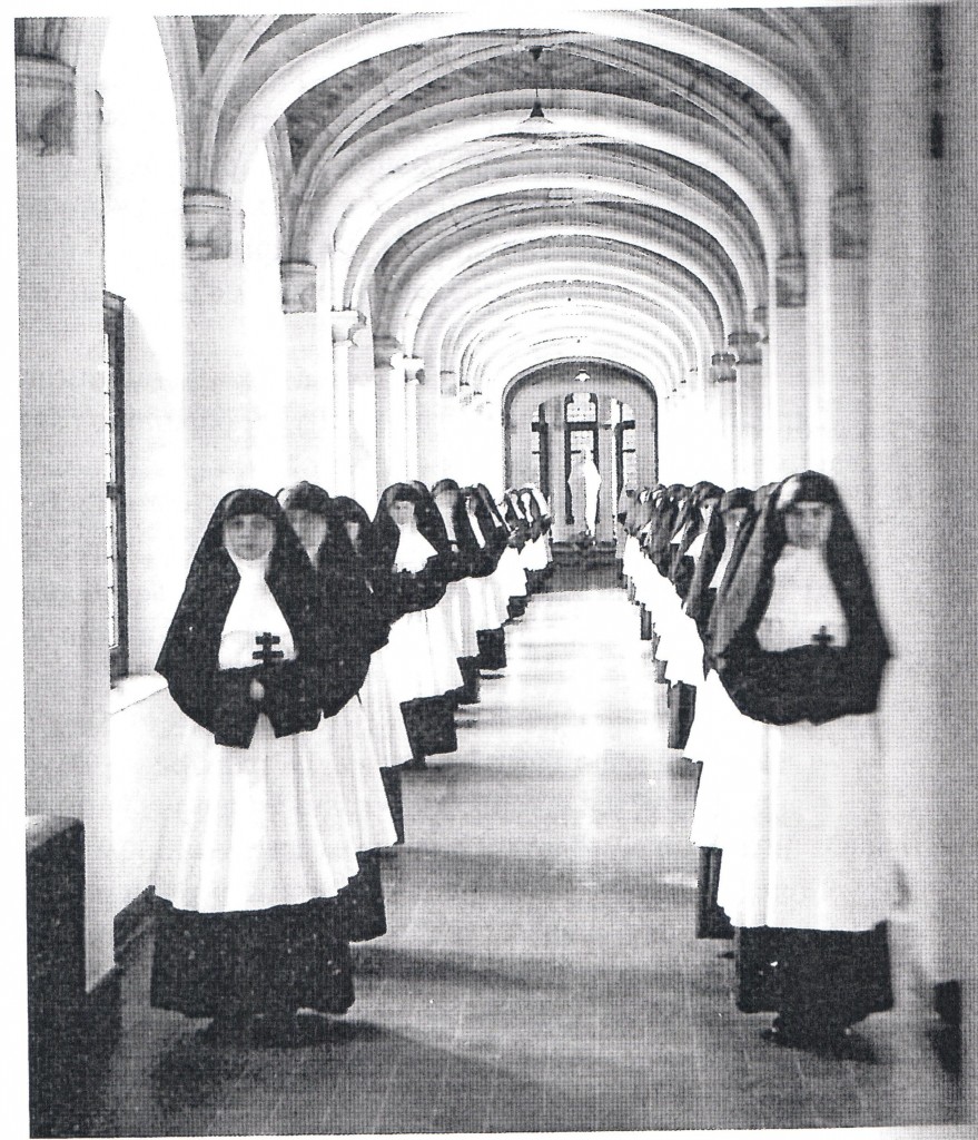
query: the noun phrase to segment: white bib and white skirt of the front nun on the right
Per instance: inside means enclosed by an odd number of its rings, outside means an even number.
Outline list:
[[[764,649],[848,636],[821,551],[785,546],[758,628]],[[735,926],[869,930],[891,915],[895,864],[881,820],[878,718],[764,725],[742,756],[723,828],[719,903]]]

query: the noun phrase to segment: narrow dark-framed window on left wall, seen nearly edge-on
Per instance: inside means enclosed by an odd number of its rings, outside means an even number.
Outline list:
[[[105,554],[108,588],[108,665],[114,684],[129,673],[125,591],[124,301],[103,295],[105,420]]]

